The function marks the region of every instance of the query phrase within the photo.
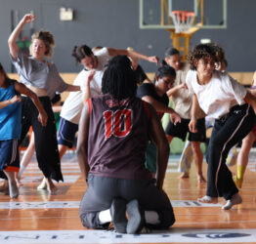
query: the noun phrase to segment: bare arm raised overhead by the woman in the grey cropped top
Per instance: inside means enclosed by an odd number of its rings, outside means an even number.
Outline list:
[[[10,54],[13,57],[13,59],[17,60],[18,58],[18,52],[19,52],[19,47],[16,43],[20,33],[21,33],[21,29],[23,28],[23,26],[28,23],[35,20],[35,16],[32,14],[27,14],[25,15],[21,21],[18,23],[18,25],[16,26],[16,28],[14,29],[14,31],[12,32],[12,34],[10,35],[9,39],[8,39],[8,45],[9,45],[9,49],[10,49]]]

